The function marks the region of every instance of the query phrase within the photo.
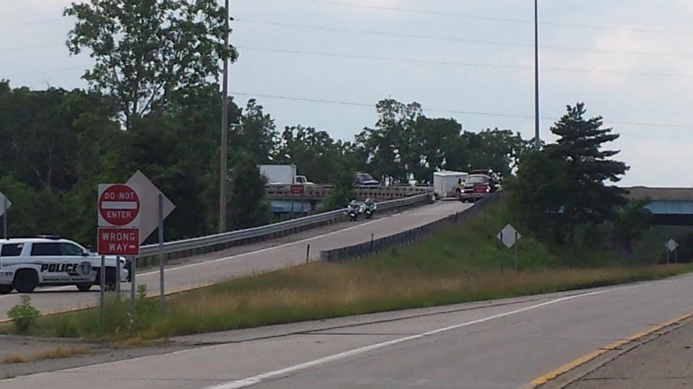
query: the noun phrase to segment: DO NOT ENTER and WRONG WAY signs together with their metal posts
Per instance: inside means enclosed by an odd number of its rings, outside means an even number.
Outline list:
[[[101,314],[105,291],[105,255],[139,255],[141,200],[139,186],[100,184],[98,186],[98,254],[101,255]],[[116,290],[120,290],[120,258],[116,257]],[[134,312],[135,266],[130,271]]]

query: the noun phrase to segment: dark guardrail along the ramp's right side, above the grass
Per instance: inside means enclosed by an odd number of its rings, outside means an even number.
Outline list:
[[[489,203],[495,199],[498,199],[498,197],[500,197],[500,193],[490,194],[489,196],[485,196],[479,201],[476,201],[472,208],[468,208],[462,212],[457,212],[455,215],[450,215],[444,219],[432,221],[425,226],[420,226],[414,228],[413,230],[406,230],[395,235],[389,235],[379,239],[372,239],[368,242],[354,244],[353,246],[320,251],[320,260],[325,262],[344,262],[347,260],[365,257],[366,255],[371,255],[373,253],[378,253],[378,251],[383,251],[392,246],[412,244],[421,239],[425,239],[426,237],[430,237],[436,231],[441,230],[442,228],[455,226],[457,223],[464,221],[464,219],[476,215],[484,210]]]

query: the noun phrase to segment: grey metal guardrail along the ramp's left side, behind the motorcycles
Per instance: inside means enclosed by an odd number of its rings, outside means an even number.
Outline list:
[[[387,211],[396,208],[415,206],[421,203],[430,203],[432,201],[432,196],[430,194],[419,194],[412,197],[406,197],[404,199],[383,201],[376,204],[379,211]],[[345,210],[346,208],[323,212],[317,215],[300,217],[297,219],[280,221],[279,223],[268,224],[267,226],[166,242],[164,243],[164,255],[166,256],[166,260],[170,260],[201,253],[220,251],[232,246],[238,246],[240,244],[259,242],[265,239],[286,236],[292,233],[297,233],[301,230],[306,230],[308,228],[314,228],[325,224],[333,224],[337,221],[344,220],[347,217],[344,212]],[[150,260],[157,259],[158,254],[159,244],[148,244],[146,246],[141,246],[137,266],[148,266],[148,264],[150,264]]]

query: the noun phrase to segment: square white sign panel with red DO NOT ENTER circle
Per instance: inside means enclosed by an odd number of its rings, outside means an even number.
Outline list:
[[[139,187],[125,184],[98,186],[99,227],[139,227]]]

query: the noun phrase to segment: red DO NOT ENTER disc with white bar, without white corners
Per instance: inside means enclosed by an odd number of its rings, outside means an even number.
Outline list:
[[[98,212],[109,224],[125,226],[139,214],[139,196],[130,186],[109,186],[98,198]]]

